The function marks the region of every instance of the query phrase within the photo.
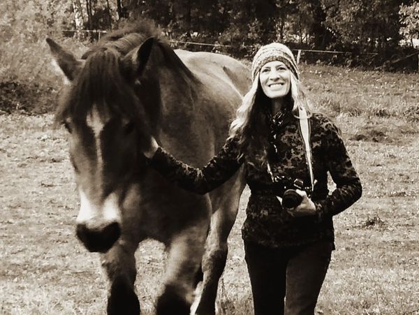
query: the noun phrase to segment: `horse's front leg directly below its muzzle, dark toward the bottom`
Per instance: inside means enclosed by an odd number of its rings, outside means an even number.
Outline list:
[[[140,302],[134,291],[137,274],[134,254],[137,245],[119,240],[101,255],[101,264],[109,281],[109,315],[140,314]]]

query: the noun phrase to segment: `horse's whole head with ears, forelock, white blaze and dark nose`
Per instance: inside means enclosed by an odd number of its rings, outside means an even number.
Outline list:
[[[158,91],[142,77],[154,41],[103,45],[76,59],[47,39],[71,82],[56,119],[68,131],[80,193],[77,235],[89,251],[108,251],[118,240],[122,213],[134,207],[135,183],[146,170],[138,139],[152,133],[158,115]]]

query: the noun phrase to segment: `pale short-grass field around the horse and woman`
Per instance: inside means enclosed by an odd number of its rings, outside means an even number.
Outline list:
[[[364,187],[335,217],[317,314],[419,314],[419,75],[304,66],[316,107],[341,128]],[[75,237],[78,196],[52,115],[0,115],[0,314],[104,314],[98,255]],[[251,314],[240,226],[229,238],[219,314]],[[163,247],[140,246],[138,295],[153,314]],[[162,263],[163,261],[163,263]]]

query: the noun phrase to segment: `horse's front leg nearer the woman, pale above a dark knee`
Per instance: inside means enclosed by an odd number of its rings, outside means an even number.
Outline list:
[[[170,244],[166,279],[157,300],[156,314],[189,315],[196,286],[196,273],[205,249],[208,220],[180,230]]]

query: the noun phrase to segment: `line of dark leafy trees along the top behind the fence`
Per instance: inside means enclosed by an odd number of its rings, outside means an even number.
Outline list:
[[[351,59],[388,59],[401,52],[402,39],[411,47],[413,38],[419,38],[415,0],[4,1],[6,17],[0,17],[0,32],[8,27],[13,32],[13,24],[23,23],[26,33],[36,32],[34,28],[42,24],[80,34],[116,29],[145,17],[170,39],[223,45],[223,52],[235,57],[249,57],[259,45],[279,41],[296,49],[351,52]]]

